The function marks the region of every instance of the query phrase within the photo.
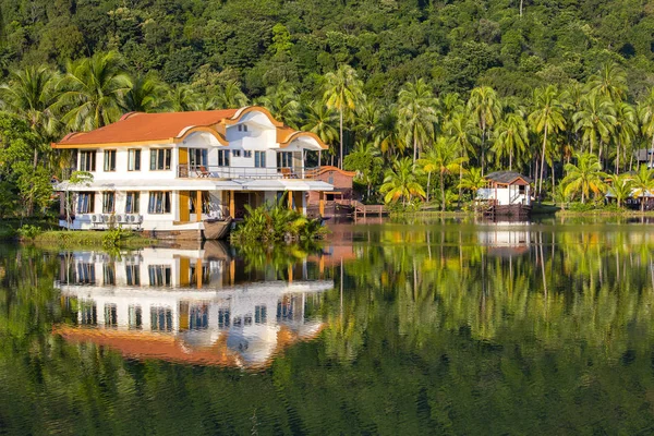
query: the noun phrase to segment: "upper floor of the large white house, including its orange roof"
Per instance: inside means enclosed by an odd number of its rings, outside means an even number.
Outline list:
[[[72,170],[94,179],[313,179],[308,153],[327,146],[262,107],[124,114],[118,122],[71,133],[53,148],[73,150]]]

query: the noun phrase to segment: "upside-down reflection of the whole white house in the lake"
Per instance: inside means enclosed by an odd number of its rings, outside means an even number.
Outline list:
[[[62,254],[57,286],[77,326],[56,332],[131,359],[244,368],[319,334],[322,293],[334,288],[319,264],[254,270],[215,249]]]

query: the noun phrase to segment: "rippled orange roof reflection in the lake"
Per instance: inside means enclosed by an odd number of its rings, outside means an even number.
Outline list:
[[[251,368],[265,367],[271,358],[300,341],[312,340],[323,330],[324,325],[311,335],[300,336],[296,331],[281,326],[277,332],[277,344],[269,359],[261,364],[252,364]],[[71,327],[60,325],[52,329],[71,342],[93,342],[119,351],[124,358],[135,360],[161,360],[172,363],[203,366],[242,367],[245,361],[241,355],[227,347],[228,335],[209,347],[192,347],[171,334],[156,334],[143,330],[117,330],[94,327]]]

